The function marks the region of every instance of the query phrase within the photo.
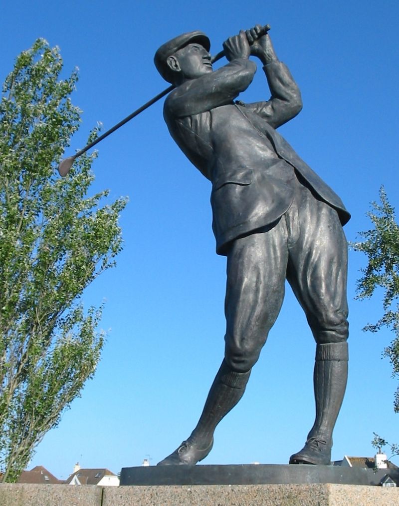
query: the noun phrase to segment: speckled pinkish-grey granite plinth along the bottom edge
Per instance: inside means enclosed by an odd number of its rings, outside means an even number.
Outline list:
[[[399,488],[339,484],[95,485],[0,484],[0,506],[397,506]]]

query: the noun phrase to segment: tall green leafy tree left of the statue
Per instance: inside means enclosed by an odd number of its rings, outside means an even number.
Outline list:
[[[88,197],[95,155],[61,179],[77,131],[58,48],[38,39],[16,59],[0,103],[0,471],[15,481],[35,446],[93,376],[104,342],[101,307],[79,300],[121,250],[125,199]],[[94,129],[89,140],[97,135]]]

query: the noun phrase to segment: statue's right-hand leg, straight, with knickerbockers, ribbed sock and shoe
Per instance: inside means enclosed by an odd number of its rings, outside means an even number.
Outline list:
[[[301,231],[290,248],[287,279],[317,343],[316,418],[304,448],[289,462],[328,465],[347,380],[347,244],[335,210],[309,190],[303,188],[303,193],[298,214]]]

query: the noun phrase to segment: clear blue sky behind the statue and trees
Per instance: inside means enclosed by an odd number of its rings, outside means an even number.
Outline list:
[[[393,0],[238,0],[146,3],[15,0],[2,6],[0,80],[37,37],[59,46],[65,75],[80,69],[73,102],[82,126],[66,156],[97,121],[111,128],[166,88],[153,57],[179,33],[201,29],[211,52],[241,28],[272,26],[279,58],[301,88],[304,109],[280,133],[352,213],[349,240],[370,228],[365,214],[384,185],[399,209],[397,24]],[[394,56],[396,55],[396,57]],[[223,64],[223,60],[220,62]],[[265,100],[259,69],[244,101]],[[31,466],[67,478],[73,465],[154,464],[186,438],[223,357],[225,258],[215,254],[210,184],[169,137],[162,101],[98,145],[92,191],[129,196],[116,269],[84,302],[106,301],[103,358],[82,397],[37,447]],[[350,376],[332,457],[372,455],[373,431],[398,442],[396,381],[381,351],[391,339],[362,332],[381,314],[378,296],[355,301],[361,254],[350,252]],[[287,463],[313,424],[315,345],[290,288],[242,401],[219,425],[204,463]],[[399,463],[396,459],[396,463]]]

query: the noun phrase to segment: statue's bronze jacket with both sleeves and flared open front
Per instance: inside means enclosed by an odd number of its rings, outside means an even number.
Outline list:
[[[212,182],[216,251],[227,255],[230,241],[271,224],[288,209],[295,172],[316,198],[350,215],[341,199],[276,132],[302,109],[301,94],[284,63],[265,65],[268,101],[233,100],[251,83],[256,65],[239,58],[173,90],[164,105],[169,132],[180,149]]]

